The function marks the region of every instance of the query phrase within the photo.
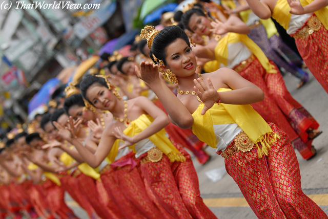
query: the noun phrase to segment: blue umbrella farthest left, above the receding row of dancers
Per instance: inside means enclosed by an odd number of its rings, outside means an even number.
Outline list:
[[[54,92],[58,83],[58,78],[49,79],[32,97],[28,105],[28,113],[31,113],[33,109],[37,108],[38,106],[45,104],[50,99],[50,95]]]

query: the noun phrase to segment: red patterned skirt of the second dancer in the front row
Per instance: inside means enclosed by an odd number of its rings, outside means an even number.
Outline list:
[[[163,154],[159,162],[142,163],[140,170],[158,202],[173,218],[217,218],[200,197],[198,177],[190,155],[175,145],[186,162],[172,163]],[[146,152],[138,158],[142,160]]]

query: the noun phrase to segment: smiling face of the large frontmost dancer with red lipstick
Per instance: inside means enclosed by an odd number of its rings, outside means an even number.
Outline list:
[[[186,41],[178,38],[166,48],[167,67],[177,77],[188,77],[196,72],[196,57]]]

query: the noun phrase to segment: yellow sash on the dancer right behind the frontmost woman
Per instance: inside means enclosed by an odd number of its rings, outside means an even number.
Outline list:
[[[274,66],[270,64],[269,59],[267,58],[267,56],[264,55],[264,53],[259,48],[259,46],[257,46],[256,43],[252,39],[250,39],[247,35],[238,34],[238,33],[228,33],[226,36],[222,37],[218,41],[214,49],[215,59],[218,61],[218,63],[214,62],[216,66],[219,65],[220,63],[226,66],[228,65],[228,45],[230,43],[235,43],[239,41],[244,43],[244,45],[247,46],[247,48],[252,51],[252,53],[256,56],[256,58],[261,63],[262,67],[265,69],[265,71],[267,71],[268,73],[277,73],[277,71],[274,69]],[[204,68],[205,66],[206,65],[204,65]]]

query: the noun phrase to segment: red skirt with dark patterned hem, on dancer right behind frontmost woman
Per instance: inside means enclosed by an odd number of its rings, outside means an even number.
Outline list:
[[[267,73],[257,58],[245,66],[239,74],[260,87],[264,100],[251,104],[267,122],[281,127],[291,139],[292,144],[304,159],[314,155],[312,140],[308,139],[306,129],[317,129],[319,124],[311,114],[298,103],[287,90],[284,80],[273,61],[278,73]]]

